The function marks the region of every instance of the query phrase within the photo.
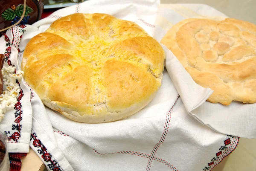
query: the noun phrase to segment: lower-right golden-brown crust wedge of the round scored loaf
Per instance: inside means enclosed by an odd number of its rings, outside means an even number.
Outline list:
[[[140,103],[141,97],[147,100],[160,87],[160,82],[150,72],[124,61],[106,61],[103,74],[111,111]]]

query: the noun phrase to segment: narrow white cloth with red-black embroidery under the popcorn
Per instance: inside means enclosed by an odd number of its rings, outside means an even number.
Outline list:
[[[13,65],[16,67],[16,70],[20,70],[18,64],[18,58],[20,57],[17,57],[17,49],[20,35],[23,34],[23,31],[24,29],[15,27],[9,29],[6,35],[0,38],[0,53],[6,56],[4,67]],[[11,48],[11,51],[9,48]],[[19,82],[21,92],[18,101],[12,110],[8,110],[5,113],[5,117],[0,122],[0,129],[6,133],[9,139],[9,152],[27,153],[29,152],[29,140],[32,127],[30,90],[23,79]],[[4,88],[6,88],[6,86],[4,86]]]

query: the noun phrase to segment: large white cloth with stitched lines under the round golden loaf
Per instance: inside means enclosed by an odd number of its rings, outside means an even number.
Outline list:
[[[20,70],[26,43],[34,35],[44,32],[57,18],[76,12],[112,14],[134,21],[150,35],[156,35],[154,23],[159,4],[159,0],[90,0],[60,9],[32,26],[16,26],[7,33],[10,42],[19,42],[20,37],[16,35],[24,34],[19,45],[21,52],[18,53],[18,46],[12,49],[12,61]],[[3,37],[0,46],[1,49],[6,46]],[[169,55],[169,50],[166,54]],[[190,116],[167,70],[163,73],[163,84],[150,104],[133,116],[104,124],[67,119],[45,107],[24,80],[20,81],[20,86],[24,91],[22,115],[27,119],[22,123],[29,122],[31,126],[32,120],[32,129],[22,127],[20,139],[23,131],[24,134],[31,131],[30,147],[49,171],[211,170],[239,142],[239,137],[217,133]],[[12,125],[13,119],[7,118],[14,115],[13,112],[6,113],[1,125]],[[24,148],[18,144],[20,139],[17,139],[17,149],[12,148],[11,152],[28,151],[29,139],[24,138],[23,143],[27,145]]]

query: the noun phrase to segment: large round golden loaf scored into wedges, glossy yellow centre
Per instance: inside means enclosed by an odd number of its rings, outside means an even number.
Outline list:
[[[33,37],[24,79],[43,103],[77,122],[111,122],[145,107],[161,86],[165,53],[136,23],[71,14]]]

